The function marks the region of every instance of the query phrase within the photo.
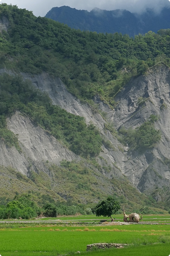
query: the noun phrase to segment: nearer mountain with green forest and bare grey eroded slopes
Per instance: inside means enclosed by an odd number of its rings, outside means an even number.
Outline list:
[[[0,202],[170,211],[170,30],[129,38],[0,5]]]

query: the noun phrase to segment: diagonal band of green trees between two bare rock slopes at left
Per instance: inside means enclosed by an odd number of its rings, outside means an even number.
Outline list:
[[[0,93],[0,138],[8,146],[19,149],[18,135],[6,128],[5,116],[20,110],[56,139],[62,140],[75,154],[88,158],[100,153],[102,138],[95,126],[87,126],[83,117],[52,105],[48,95],[35,89],[29,81],[3,74],[0,76]]]

